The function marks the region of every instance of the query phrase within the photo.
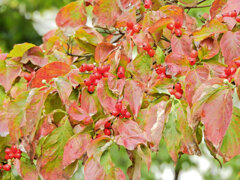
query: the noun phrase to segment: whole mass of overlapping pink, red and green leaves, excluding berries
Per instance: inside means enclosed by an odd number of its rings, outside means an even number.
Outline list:
[[[70,179],[79,160],[86,180],[140,179],[141,164],[150,168],[161,139],[174,162],[182,153],[200,155],[204,142],[224,162],[240,154],[240,69],[230,82],[221,78],[240,60],[240,26],[219,16],[240,12],[240,3],[215,0],[197,28],[184,9],[198,1],[179,2],[184,5],[153,0],[151,10],[141,0],[72,2],[59,11],[59,28],[41,46],[18,44],[1,53],[1,161],[4,148],[18,144],[25,156],[15,167],[26,180]],[[181,37],[166,28],[174,21],[183,24]],[[141,24],[141,31],[129,34],[128,22]],[[143,43],[152,46],[154,57]],[[192,49],[198,50],[194,66],[188,60]],[[94,93],[84,84],[90,73],[78,70],[83,63],[110,65]],[[160,65],[171,78],[158,78]],[[119,66],[126,78],[118,79]],[[27,82],[24,75],[33,71]],[[177,82],[181,99],[168,92]],[[118,100],[130,119],[111,115]],[[112,123],[111,136],[103,133],[106,122]],[[118,166],[113,149],[130,162],[127,169]]]

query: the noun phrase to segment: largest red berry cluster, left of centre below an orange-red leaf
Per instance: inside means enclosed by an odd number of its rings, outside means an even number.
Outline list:
[[[108,77],[110,70],[110,65],[105,65],[102,67],[95,67],[93,64],[87,65],[83,64],[80,68],[80,72],[93,71],[89,78],[84,80],[84,84],[88,86],[88,92],[93,93],[95,91],[95,86],[100,79],[103,77]]]

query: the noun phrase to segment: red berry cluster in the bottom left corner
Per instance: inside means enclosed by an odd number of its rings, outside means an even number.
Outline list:
[[[5,149],[5,159],[11,160],[11,159],[20,159],[22,156],[22,151],[17,148],[17,146],[13,145],[11,148]],[[3,169],[4,171],[10,171],[11,170],[11,161],[8,162],[8,164],[0,164],[0,170]]]

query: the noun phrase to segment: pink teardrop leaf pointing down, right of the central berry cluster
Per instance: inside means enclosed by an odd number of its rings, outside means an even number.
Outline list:
[[[142,105],[143,99],[142,84],[134,80],[126,81],[124,89],[124,99],[129,103],[130,109],[136,119]]]

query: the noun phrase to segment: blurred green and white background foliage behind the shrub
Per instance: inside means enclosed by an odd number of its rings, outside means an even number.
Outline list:
[[[71,2],[72,0],[2,0],[0,1],[0,48],[3,52],[11,50],[14,44],[30,42],[41,44],[41,35],[37,33],[33,26],[33,14],[35,12],[43,13],[46,10],[56,10]],[[210,5],[213,0],[208,0],[202,5]],[[209,12],[209,8],[191,9],[189,14],[194,16],[198,25],[204,23],[202,15]],[[153,162],[150,171],[147,167],[142,168],[142,179],[144,180],[172,180],[174,175],[179,175],[179,179],[184,179],[183,174],[194,171],[199,172],[202,178],[206,180],[236,180],[240,179],[240,156],[235,157],[231,162],[220,168],[218,162],[208,153],[204,143],[201,144],[203,152],[202,157],[183,155],[178,161],[176,167],[171,160],[166,147],[160,144],[159,152],[152,154]],[[111,149],[111,154],[118,166],[126,168],[129,166],[126,153],[121,149]],[[198,180],[198,177],[189,177]],[[73,180],[81,180],[83,177],[83,168],[81,162],[79,169],[75,173]]]

